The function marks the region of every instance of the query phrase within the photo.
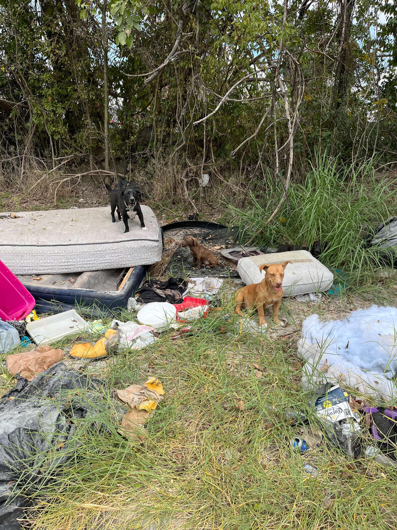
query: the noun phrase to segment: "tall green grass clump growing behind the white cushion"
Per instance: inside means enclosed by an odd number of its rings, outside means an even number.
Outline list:
[[[317,156],[303,183],[291,184],[288,200],[265,226],[282,195],[283,187],[277,185],[267,195],[251,196],[246,209],[230,207],[232,223],[243,238],[255,236],[257,244],[276,247],[326,242],[321,261],[348,273],[356,285],[381,267],[364,240],[368,229],[395,214],[396,180],[376,175],[371,163],[341,166],[326,154]]]

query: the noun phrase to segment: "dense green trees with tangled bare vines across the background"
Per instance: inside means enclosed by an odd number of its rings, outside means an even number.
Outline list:
[[[228,160],[287,186],[316,152],[397,157],[388,0],[0,0],[0,32],[3,158]]]

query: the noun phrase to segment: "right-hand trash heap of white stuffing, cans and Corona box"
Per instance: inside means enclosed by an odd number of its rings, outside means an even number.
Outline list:
[[[314,314],[304,320],[297,343],[302,388],[311,394],[309,408],[326,440],[351,458],[389,467],[397,465],[396,323],[395,307],[373,305],[330,322]],[[296,411],[286,417],[308,423]],[[302,452],[312,444],[299,434],[291,440]]]

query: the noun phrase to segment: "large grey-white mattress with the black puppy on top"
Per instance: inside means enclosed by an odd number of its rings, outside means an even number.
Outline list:
[[[161,259],[161,228],[148,206],[137,218],[112,223],[109,206],[25,211],[1,218],[0,259],[14,274],[52,274],[149,265]]]

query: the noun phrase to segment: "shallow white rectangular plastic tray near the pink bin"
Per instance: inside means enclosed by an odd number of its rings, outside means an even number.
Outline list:
[[[37,345],[56,342],[68,335],[84,331],[87,322],[74,310],[46,316],[26,325],[26,331]]]

